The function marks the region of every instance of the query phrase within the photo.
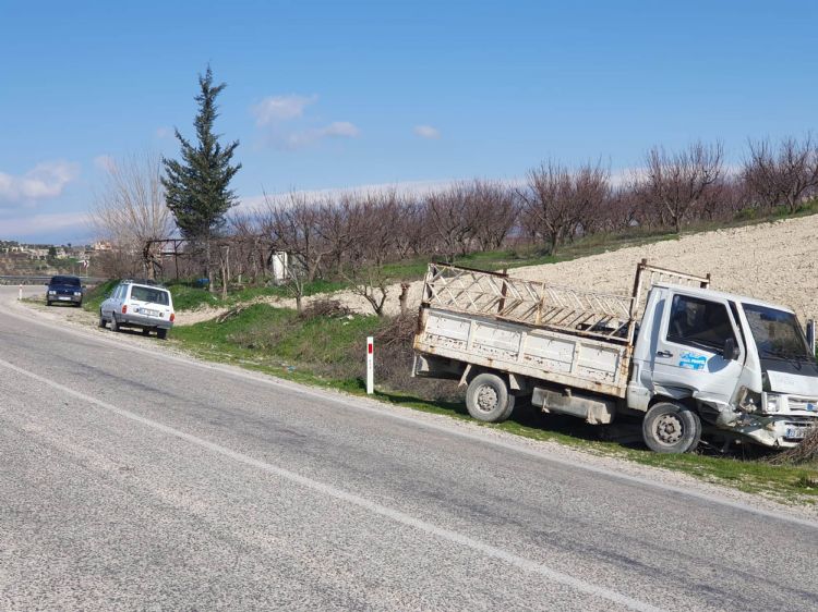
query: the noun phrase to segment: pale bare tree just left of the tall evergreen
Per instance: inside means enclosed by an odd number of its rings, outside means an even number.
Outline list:
[[[176,228],[165,206],[160,173],[159,158],[152,154],[110,161],[91,211],[99,237],[140,257],[147,278],[154,278],[155,268],[160,266],[157,247],[148,241],[168,237]]]

